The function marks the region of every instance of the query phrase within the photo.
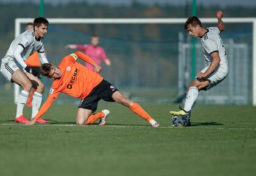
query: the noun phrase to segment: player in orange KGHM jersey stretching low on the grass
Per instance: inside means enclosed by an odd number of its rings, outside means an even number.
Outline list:
[[[91,64],[94,72],[77,63],[77,58]],[[35,119],[27,124],[35,124],[37,118],[40,118],[48,110],[55,98],[58,98],[59,94],[63,92],[82,100],[77,110],[76,123],[78,125],[92,124],[98,119],[100,119],[99,124],[105,124],[106,117],[110,113],[109,110],[105,109],[102,112],[92,114],[97,109],[98,101],[102,99],[123,104],[141,118],[147,120],[151,126],[159,126],[157,121],[138,103],[126,98],[115,86],[105,81],[99,73],[101,73],[101,67],[82,52],[75,52],[66,56],[57,67],[52,64],[43,64],[41,75],[54,78],[54,81],[48,99],[35,116]]]

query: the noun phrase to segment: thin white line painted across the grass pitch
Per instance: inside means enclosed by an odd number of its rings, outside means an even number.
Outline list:
[[[4,123],[2,126],[25,126],[24,124],[12,124],[12,123]],[[76,124],[35,124],[35,126],[65,126],[65,127],[88,127],[88,126],[78,126]],[[94,127],[98,127],[98,125],[91,125]],[[151,127],[151,126],[113,126],[113,125],[105,125],[104,127],[126,127],[126,128],[165,128],[165,129],[221,129],[221,130],[256,130],[256,128],[236,128],[236,127],[174,127],[174,126],[159,126],[159,127]]]

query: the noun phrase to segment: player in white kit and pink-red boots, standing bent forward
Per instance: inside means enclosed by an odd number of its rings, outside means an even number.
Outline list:
[[[4,75],[8,81],[23,87],[23,90],[21,90],[18,96],[15,123],[27,123],[27,121],[29,121],[23,115],[23,107],[27,102],[27,97],[32,87],[34,87],[35,93],[32,101],[31,118],[37,115],[38,109],[41,106],[44,85],[37,77],[39,73],[27,66],[24,61],[34,52],[38,51],[41,63],[48,63],[44,55],[43,43],[43,36],[47,33],[48,25],[49,22],[47,19],[42,17],[35,18],[34,28],[26,30],[26,32],[21,33],[21,35],[15,38],[12,44],[10,44],[6,55],[2,58],[2,75]],[[37,120],[37,123],[49,123],[49,121],[40,118]]]

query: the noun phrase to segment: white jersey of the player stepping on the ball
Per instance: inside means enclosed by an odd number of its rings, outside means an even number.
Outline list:
[[[219,53],[219,58],[221,58],[219,64],[227,64],[227,54],[219,36],[219,33],[221,33],[219,28],[208,27],[206,30],[207,32],[201,37],[201,42],[207,66],[210,66],[210,63],[212,63],[212,57],[210,55],[213,52]]]

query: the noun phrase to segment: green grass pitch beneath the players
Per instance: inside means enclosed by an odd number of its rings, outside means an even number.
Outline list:
[[[198,105],[191,127],[171,127],[177,104],[141,105],[161,127],[115,103],[99,103],[105,126],[76,126],[77,106],[57,104],[51,124],[24,126],[1,104],[0,175],[255,175],[256,107]]]

